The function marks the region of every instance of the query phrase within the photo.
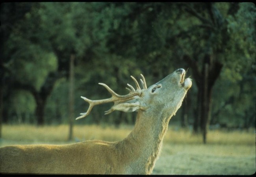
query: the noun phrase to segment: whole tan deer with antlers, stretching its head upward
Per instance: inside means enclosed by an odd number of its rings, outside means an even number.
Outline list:
[[[136,89],[127,84],[129,93],[119,95],[104,86],[111,98],[89,100],[89,115],[94,106],[113,102],[105,114],[113,111],[137,112],[135,125],[121,141],[87,140],[65,145],[10,145],[0,148],[1,173],[33,174],[151,174],[160,156],[169,120],[182,105],[192,86],[184,69],[175,70],[161,81],[147,87],[141,74],[141,86],[133,77]]]

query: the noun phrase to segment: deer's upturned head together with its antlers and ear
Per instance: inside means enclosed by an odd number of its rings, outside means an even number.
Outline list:
[[[127,84],[126,88],[129,90],[129,94],[121,96],[111,90],[106,84],[99,83],[104,86],[110,93],[111,98],[103,100],[89,100],[83,96],[83,100],[89,103],[89,108],[87,112],[81,113],[77,119],[87,116],[95,105],[114,102],[114,105],[105,114],[109,114],[113,111],[124,111],[124,112],[134,112],[134,111],[164,111],[168,113],[170,110],[170,115],[173,109],[178,110],[181,106],[182,100],[186,95],[187,90],[191,87],[191,79],[185,79],[186,71],[184,69],[178,69],[172,74],[168,75],[156,84],[151,85],[147,88],[147,84],[144,76],[141,74],[142,79],[140,79],[143,89],[139,86],[137,80],[133,77],[136,89],[132,85]],[[173,107],[173,109],[170,109]]]

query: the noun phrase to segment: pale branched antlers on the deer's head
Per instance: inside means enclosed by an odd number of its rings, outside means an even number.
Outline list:
[[[104,86],[109,91],[109,93],[112,95],[111,98],[107,98],[107,99],[103,99],[103,100],[90,100],[88,98],[85,98],[85,97],[81,96],[81,98],[83,98],[83,100],[85,100],[86,102],[89,103],[89,108],[88,108],[87,112],[80,113],[81,116],[76,118],[76,120],[78,120],[80,118],[84,118],[85,116],[87,116],[91,112],[91,110],[93,109],[93,107],[95,105],[100,105],[100,104],[109,103],[109,102],[114,102],[114,104],[117,104],[117,103],[120,103],[120,102],[132,100],[134,96],[140,96],[142,90],[139,87],[139,83],[137,82],[137,80],[133,76],[131,76],[131,77],[134,80],[137,89],[135,90],[134,87],[132,87],[132,85],[127,84],[130,87],[130,89],[126,88],[126,89],[129,90],[129,94],[127,94],[127,95],[119,95],[119,94],[115,93],[112,89],[110,89],[108,87],[108,85],[106,85],[104,83],[98,83],[99,85]],[[147,89],[147,84],[146,84],[146,81],[145,81],[145,77],[142,74],[141,74],[141,77],[142,77],[142,79],[140,79],[140,80],[141,80],[141,84],[143,86],[143,89]],[[114,109],[111,108],[108,111],[105,111],[105,114],[109,114],[113,111],[114,111]]]

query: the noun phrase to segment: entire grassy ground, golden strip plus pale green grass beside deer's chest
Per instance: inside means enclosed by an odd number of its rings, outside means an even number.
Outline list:
[[[72,142],[125,138],[132,126],[102,127],[76,125]],[[9,144],[67,144],[67,125],[35,127],[3,125],[0,146]],[[255,129],[246,131],[209,131],[208,144],[187,129],[169,127],[161,156],[152,174],[171,175],[250,175],[256,171]]]

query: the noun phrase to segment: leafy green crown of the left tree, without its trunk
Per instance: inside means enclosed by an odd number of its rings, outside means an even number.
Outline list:
[[[58,63],[56,55],[41,46],[44,39],[40,37],[44,33],[39,31],[34,13],[32,9],[21,22],[13,24],[15,28],[5,41],[8,47],[4,52],[8,58],[5,66],[12,71],[12,79],[39,90],[48,74],[57,69]]]

